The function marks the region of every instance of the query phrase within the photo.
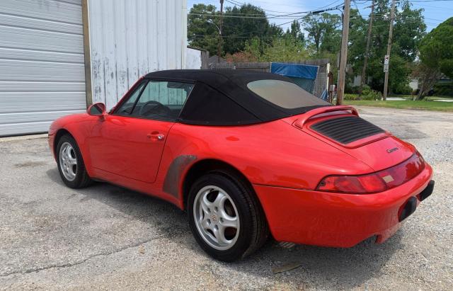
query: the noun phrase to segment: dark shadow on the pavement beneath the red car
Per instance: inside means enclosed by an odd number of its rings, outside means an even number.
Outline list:
[[[47,176],[55,183],[64,185],[57,169],[48,170]],[[84,195],[81,202],[91,199],[102,202],[129,217],[152,225],[162,237],[180,244],[181,248],[208,258],[193,239],[185,212],[170,202],[109,183],[95,183],[89,188],[77,189],[76,193]],[[209,263],[203,268],[211,268],[212,272],[216,272],[216,268],[224,268],[285,285],[297,285],[302,289],[310,287],[312,282],[321,289],[351,289],[361,287],[370,278],[378,278],[382,267],[395,251],[402,248],[401,230],[384,244],[374,244],[373,239],[367,239],[349,249],[305,245],[288,249],[269,239],[248,258],[234,263]],[[273,267],[289,263],[298,263],[300,266],[283,273],[273,273]],[[326,285],[320,286],[320,283]]]

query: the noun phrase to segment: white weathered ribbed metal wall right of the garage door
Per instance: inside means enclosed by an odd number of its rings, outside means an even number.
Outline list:
[[[140,76],[183,69],[186,0],[88,0],[94,102],[113,105]]]

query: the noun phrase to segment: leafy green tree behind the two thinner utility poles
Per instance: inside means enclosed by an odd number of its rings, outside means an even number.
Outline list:
[[[384,55],[389,40],[390,1],[377,0],[374,8],[374,21],[369,50],[367,76],[371,77],[372,89],[382,91],[384,88]],[[412,72],[412,62],[417,56],[418,45],[425,34],[422,9],[413,9],[406,1],[398,1],[394,23],[394,35],[391,46],[389,66],[389,89],[402,93],[408,86]],[[351,34],[348,60],[354,74],[361,74],[367,41],[367,25],[362,16],[351,11]]]

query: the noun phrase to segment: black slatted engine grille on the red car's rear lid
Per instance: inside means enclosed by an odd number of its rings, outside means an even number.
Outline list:
[[[310,128],[342,144],[349,144],[364,137],[384,132],[382,128],[357,116],[324,120],[311,125]]]

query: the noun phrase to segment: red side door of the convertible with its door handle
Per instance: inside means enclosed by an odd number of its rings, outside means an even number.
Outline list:
[[[96,120],[88,137],[93,168],[154,183],[165,146],[165,140],[161,142],[157,136],[166,137],[172,125],[116,115]]]

